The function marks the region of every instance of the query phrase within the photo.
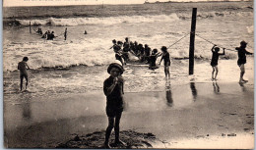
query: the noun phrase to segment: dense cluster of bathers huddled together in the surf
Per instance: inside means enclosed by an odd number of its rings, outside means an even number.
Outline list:
[[[115,58],[119,60],[122,65],[126,65],[127,61],[130,60],[128,52],[133,54],[134,56],[139,58],[141,63],[149,64],[150,69],[157,69],[156,61],[157,58],[161,55],[158,49],[153,49],[148,44],[141,44],[137,41],[129,41],[128,37],[125,38],[125,41],[116,41],[115,39],[112,40]],[[110,49],[111,49],[110,48]]]

